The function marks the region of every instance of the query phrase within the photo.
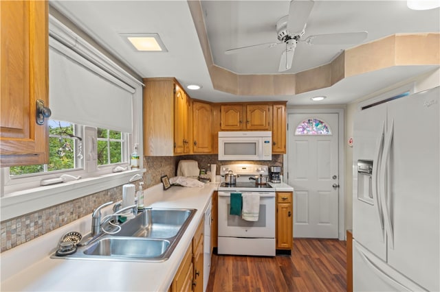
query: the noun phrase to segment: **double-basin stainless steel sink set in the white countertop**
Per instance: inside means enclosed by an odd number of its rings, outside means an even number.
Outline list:
[[[51,258],[83,260],[164,261],[173,253],[196,209],[145,208],[120,224],[116,234],[87,234],[72,254]],[[107,230],[107,229],[106,229]],[[111,230],[108,230],[111,231]]]

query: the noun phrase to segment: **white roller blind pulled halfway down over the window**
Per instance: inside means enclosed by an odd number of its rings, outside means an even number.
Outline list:
[[[131,133],[135,89],[50,38],[51,119]]]

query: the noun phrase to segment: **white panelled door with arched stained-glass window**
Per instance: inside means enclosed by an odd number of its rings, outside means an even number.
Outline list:
[[[338,238],[338,114],[289,114],[288,119],[294,237]]]

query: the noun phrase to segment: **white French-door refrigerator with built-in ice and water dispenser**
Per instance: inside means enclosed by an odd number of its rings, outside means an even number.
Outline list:
[[[439,87],[360,110],[353,290],[440,291]]]

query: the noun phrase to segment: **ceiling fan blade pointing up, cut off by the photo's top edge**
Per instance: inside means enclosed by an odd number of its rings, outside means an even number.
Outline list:
[[[314,8],[314,1],[290,1],[289,19],[287,20],[287,32],[300,34],[303,32],[307,19]]]

